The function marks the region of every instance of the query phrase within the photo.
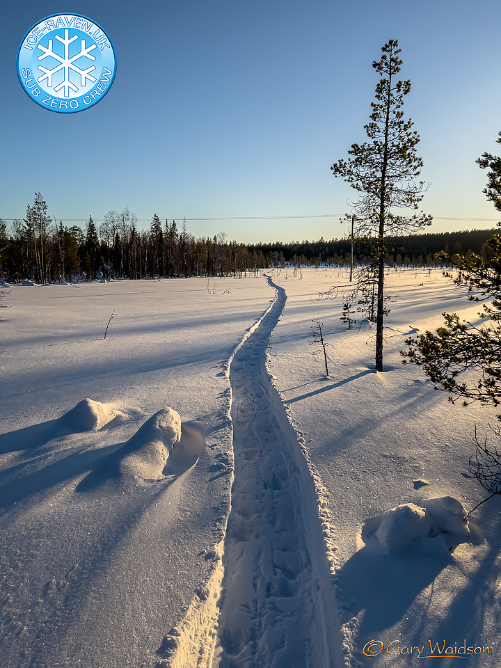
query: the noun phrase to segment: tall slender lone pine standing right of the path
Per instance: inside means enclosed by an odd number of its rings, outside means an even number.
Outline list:
[[[393,209],[417,209],[427,190],[424,181],[416,182],[423,161],[417,157],[420,141],[411,128],[411,119],[404,121],[404,95],[411,90],[411,81],[397,81],[403,61],[397,40],[385,44],[380,61],[372,67],[379,74],[376,102],[372,102],[370,122],[365,125],[369,142],[352,144],[348,160],[340,159],[333,166],[335,177],[342,177],[358,193],[353,210],[358,219],[359,237],[376,235],[377,312],[376,369],[383,370],[384,266],[387,234],[408,234],[415,228],[431,224],[431,216],[423,212],[401,216]]]

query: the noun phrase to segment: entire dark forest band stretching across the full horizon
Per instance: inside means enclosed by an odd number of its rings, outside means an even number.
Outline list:
[[[154,278],[237,276],[267,267],[287,265],[344,266],[349,264],[348,238],[325,241],[291,241],[287,244],[241,244],[215,237],[194,237],[181,223],[161,223],[156,214],[148,230],[138,230],[136,216],[123,209],[109,212],[96,226],[92,217],[85,230],[56,223],[37,193],[24,220],[9,227],[0,219],[0,278],[37,283],[95,278]],[[485,254],[485,244],[496,228],[439,234],[415,234],[387,239],[391,266],[432,266],[436,253]],[[367,264],[371,240],[356,241],[356,264]]]

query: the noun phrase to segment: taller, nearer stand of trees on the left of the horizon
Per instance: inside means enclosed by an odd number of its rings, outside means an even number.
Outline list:
[[[180,276],[236,276],[268,266],[260,251],[227,241],[220,232],[196,238],[175,221],[161,223],[154,214],[148,230],[139,230],[127,209],[111,211],[96,225],[67,227],[48,215],[47,203],[35,193],[26,218],[7,228],[0,221],[0,272],[5,280],[37,283],[79,277],[153,278]]]

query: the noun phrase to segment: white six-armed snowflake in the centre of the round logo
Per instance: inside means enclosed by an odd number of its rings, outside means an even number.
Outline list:
[[[73,70],[74,72],[77,72],[77,74],[80,75],[80,85],[81,86],[86,86],[86,80],[88,79],[90,82],[94,83],[97,81],[95,77],[93,77],[89,72],[93,72],[95,70],[94,65],[91,67],[88,67],[87,70],[81,70],[80,67],[77,67],[77,65],[74,65],[74,61],[77,61],[79,58],[88,58],[90,61],[95,61],[95,57],[90,55],[90,51],[93,51],[93,49],[96,48],[97,45],[93,44],[90,47],[86,47],[86,40],[81,40],[81,51],[79,54],[76,56],[72,56],[70,58],[70,44],[74,42],[75,40],[78,39],[78,35],[74,35],[74,37],[70,38],[69,36],[70,31],[65,30],[65,36],[64,38],[61,38],[59,35],[54,35],[56,40],[61,42],[61,44],[64,45],[64,57],[59,56],[56,54],[56,52],[53,50],[53,40],[49,40],[49,48],[47,49],[46,47],[42,46],[41,44],[38,45],[38,49],[40,51],[43,51],[42,56],[38,56],[38,60],[42,61],[44,58],[54,58],[56,61],[61,63],[60,65],[56,65],[52,70],[47,70],[45,67],[42,67],[42,65],[38,65],[38,69],[43,72],[41,77],[38,77],[37,81],[38,83],[42,83],[45,79],[47,79],[47,86],[49,88],[52,87],[52,77],[56,72],[59,72],[61,70],[64,70],[64,79],[61,82],[61,84],[58,84],[57,86],[54,87],[54,93],[58,93],[59,90],[64,91],[64,97],[70,97],[70,88],[71,90],[74,91],[74,93],[77,93],[79,88],[76,86],[72,81],[70,81],[70,70]]]

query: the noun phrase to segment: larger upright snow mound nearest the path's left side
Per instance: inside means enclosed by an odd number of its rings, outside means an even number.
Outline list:
[[[173,408],[155,413],[124,446],[128,454],[120,461],[125,477],[160,479],[168,457],[181,440],[181,418]]]

